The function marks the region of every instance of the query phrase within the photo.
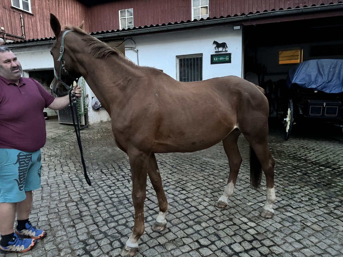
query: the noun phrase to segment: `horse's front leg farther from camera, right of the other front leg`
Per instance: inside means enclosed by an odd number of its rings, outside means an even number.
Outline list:
[[[154,154],[150,155],[148,175],[149,175],[151,184],[155,189],[157,200],[158,200],[158,206],[159,206],[159,213],[156,218],[156,221],[152,225],[152,230],[162,231],[165,229],[166,224],[167,224],[166,215],[168,213],[169,208],[168,208],[167,198],[163,190],[161,175],[159,174],[157,162],[156,162],[156,158]]]

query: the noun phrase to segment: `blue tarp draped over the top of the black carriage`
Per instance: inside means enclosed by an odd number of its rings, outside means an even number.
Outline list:
[[[343,92],[343,60],[308,60],[288,71],[287,86],[298,84],[326,93]]]

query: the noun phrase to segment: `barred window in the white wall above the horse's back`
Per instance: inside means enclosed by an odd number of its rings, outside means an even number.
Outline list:
[[[202,54],[177,56],[177,79],[182,82],[202,80]]]

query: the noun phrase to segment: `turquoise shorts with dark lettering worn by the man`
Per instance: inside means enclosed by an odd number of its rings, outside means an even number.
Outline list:
[[[40,149],[0,148],[0,203],[18,203],[26,198],[26,191],[40,188],[41,171]]]

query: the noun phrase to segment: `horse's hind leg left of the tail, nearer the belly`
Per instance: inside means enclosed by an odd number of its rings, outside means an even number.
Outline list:
[[[240,131],[235,129],[223,140],[224,150],[229,160],[230,172],[224,193],[215,203],[215,206],[220,208],[227,206],[227,199],[234,193],[239,167],[242,163],[242,157],[240,156],[237,145],[239,135]]]

